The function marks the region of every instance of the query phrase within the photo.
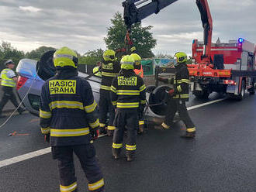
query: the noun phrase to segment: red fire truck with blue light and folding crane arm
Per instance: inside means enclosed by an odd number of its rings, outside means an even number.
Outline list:
[[[128,31],[133,23],[141,22],[147,16],[157,14],[161,9],[178,0],[126,0],[123,2]],[[149,2],[149,3],[148,3]],[[246,39],[230,40],[228,43],[212,43],[213,19],[207,0],[196,0],[202,27],[203,42],[192,43],[193,64],[189,64],[191,91],[196,98],[208,98],[213,91],[226,93],[242,100],[245,91],[254,94],[256,81],[255,46]],[[157,69],[156,73],[173,73],[171,69]]]

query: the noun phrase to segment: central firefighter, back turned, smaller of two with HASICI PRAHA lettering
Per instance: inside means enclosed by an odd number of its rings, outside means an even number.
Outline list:
[[[121,72],[111,86],[112,105],[116,108],[116,130],[112,142],[112,155],[119,159],[123,146],[123,133],[127,129],[126,157],[133,161],[136,151],[138,111],[143,111],[146,103],[146,86],[133,69],[134,60],[126,55],[121,60]],[[140,109],[139,109],[140,108]]]

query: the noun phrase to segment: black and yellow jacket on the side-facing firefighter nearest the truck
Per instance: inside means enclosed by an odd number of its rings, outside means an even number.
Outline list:
[[[189,70],[185,63],[178,63],[175,67],[175,77],[168,79],[175,89],[174,99],[189,101]]]

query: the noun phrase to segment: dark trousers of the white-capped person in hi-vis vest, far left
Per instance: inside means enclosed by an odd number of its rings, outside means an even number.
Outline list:
[[[13,93],[13,87],[7,87],[7,86],[2,86],[2,99],[0,101],[0,115],[2,114],[2,109],[5,107],[7,102],[10,100],[12,101],[12,104],[18,108],[19,104],[16,100],[16,95]],[[22,108],[18,108],[19,113],[22,113]]]

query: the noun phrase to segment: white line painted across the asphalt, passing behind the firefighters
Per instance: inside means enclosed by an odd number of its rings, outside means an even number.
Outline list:
[[[194,105],[194,106],[191,106],[187,109],[189,111],[189,110],[192,110],[192,109],[195,109],[195,108],[202,108],[203,106],[211,105],[213,103],[223,101],[223,100],[225,100],[225,98],[217,99],[217,100],[214,100],[214,101],[209,101],[209,102],[199,104],[199,105]],[[99,137],[103,137],[103,136],[105,136],[105,135],[99,135]],[[22,156],[16,156],[16,157],[13,157],[11,159],[5,159],[3,161],[0,161],[0,168],[4,167],[4,166],[12,165],[14,163],[19,163],[19,162],[24,161],[26,159],[32,159],[33,157],[36,157],[36,156],[42,156],[42,155],[45,155],[45,154],[50,153],[50,152],[51,152],[50,147],[47,147],[45,149],[40,149],[38,151],[34,151],[34,152],[31,152],[31,153],[26,153]]]

